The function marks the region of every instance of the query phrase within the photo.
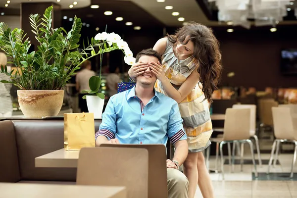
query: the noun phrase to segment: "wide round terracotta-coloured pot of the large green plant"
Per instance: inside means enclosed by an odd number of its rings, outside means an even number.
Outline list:
[[[56,116],[63,104],[64,90],[18,90],[17,98],[25,117]]]

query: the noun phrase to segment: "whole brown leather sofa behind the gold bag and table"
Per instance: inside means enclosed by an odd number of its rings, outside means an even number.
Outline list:
[[[100,123],[95,120],[95,131]],[[35,157],[63,147],[63,118],[1,120],[0,182],[75,182],[76,168],[35,167]]]

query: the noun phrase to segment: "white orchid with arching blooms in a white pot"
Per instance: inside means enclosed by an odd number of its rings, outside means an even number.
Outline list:
[[[100,55],[100,73],[99,76],[92,76],[89,80],[90,90],[83,90],[83,99],[87,99],[87,105],[89,112],[94,113],[95,118],[102,118],[102,110],[104,106],[104,95],[99,93],[101,86],[101,68],[102,68],[102,57],[103,53],[112,50],[120,49],[125,54],[125,63],[132,65],[135,63],[135,58],[133,57],[132,51],[129,46],[124,42],[121,37],[115,33],[102,32],[95,36],[94,39],[99,45],[99,55]],[[95,52],[93,52],[95,53]]]

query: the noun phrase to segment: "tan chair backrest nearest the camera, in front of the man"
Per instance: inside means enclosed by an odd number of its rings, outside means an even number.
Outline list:
[[[76,184],[124,186],[127,189],[127,198],[148,198],[148,150],[82,148]]]

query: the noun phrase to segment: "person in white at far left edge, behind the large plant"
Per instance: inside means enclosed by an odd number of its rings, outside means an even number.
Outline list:
[[[7,57],[0,52],[0,66],[7,64]],[[0,80],[10,81],[10,78],[3,73],[0,73]],[[12,99],[10,95],[11,84],[0,83],[0,117],[12,116]]]

